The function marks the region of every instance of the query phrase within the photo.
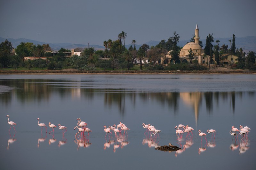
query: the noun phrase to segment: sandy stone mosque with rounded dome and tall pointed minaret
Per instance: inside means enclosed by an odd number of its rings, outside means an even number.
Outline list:
[[[196,29],[195,29],[195,37],[194,40],[195,42],[189,42],[188,44],[186,44],[181,50],[180,50],[180,60],[176,61],[176,63],[188,63],[189,62],[189,50],[191,48],[191,50],[193,51],[194,55],[194,60],[198,61],[198,64],[204,64],[204,49],[202,49],[202,47],[199,45],[199,29],[198,29],[198,25],[196,24]],[[170,51],[169,51],[170,52]],[[168,54],[166,55],[166,58],[168,58],[170,61],[170,63],[174,63],[172,56]],[[165,57],[161,57],[161,63],[164,63]]]

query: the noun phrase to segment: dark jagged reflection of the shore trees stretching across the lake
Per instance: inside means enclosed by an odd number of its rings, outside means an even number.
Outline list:
[[[21,102],[49,100],[52,93],[58,93],[61,98],[74,93],[74,88],[80,89],[81,96],[92,100],[95,96],[104,95],[105,106],[117,106],[120,114],[125,113],[125,103],[132,101],[135,107],[137,101],[154,101],[161,107],[167,106],[174,110],[174,114],[179,109],[179,100],[182,99],[185,104],[191,105],[198,114],[202,100],[205,100],[205,106],[208,114],[212,113],[213,103],[219,105],[220,98],[222,100],[230,100],[230,107],[235,112],[236,96],[242,99],[244,93],[248,93],[249,97],[253,97],[255,92],[139,92],[125,91],[115,89],[95,89],[80,88],[70,85],[70,82],[60,82],[54,79],[28,79],[28,80],[12,80],[1,81],[1,85],[16,87],[11,92],[0,94],[0,99],[5,105],[11,102],[12,96],[17,97]],[[76,83],[74,83],[76,85]],[[77,92],[77,91],[76,91]],[[13,95],[14,93],[14,95]]]

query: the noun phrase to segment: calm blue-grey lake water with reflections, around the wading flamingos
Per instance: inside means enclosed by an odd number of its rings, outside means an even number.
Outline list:
[[[256,75],[0,75],[1,169],[254,169]],[[16,133],[7,123],[15,122]],[[41,133],[39,123],[47,125]],[[75,138],[77,118],[92,130]],[[54,128],[51,122],[67,127]],[[105,138],[123,122],[128,135]],[[161,130],[151,138],[142,127]],[[176,136],[175,126],[194,128]],[[232,140],[232,126],[251,128]],[[215,129],[215,139],[206,133]],[[86,133],[85,133],[86,134]],[[155,147],[179,146],[177,152]]]

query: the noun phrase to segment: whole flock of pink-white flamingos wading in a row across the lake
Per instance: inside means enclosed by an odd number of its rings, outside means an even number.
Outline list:
[[[10,132],[12,126],[13,126],[13,128],[14,128],[14,125],[16,125],[16,123],[14,123],[14,122],[12,122],[12,121],[9,122],[9,118],[10,118],[9,115],[6,115],[6,117],[8,117],[8,120],[7,120],[8,124],[11,125],[11,126],[10,126],[10,129],[9,129],[9,132]],[[38,126],[41,127],[41,133],[42,133],[42,131],[43,131],[43,127],[45,127],[45,131],[47,132],[47,127],[46,127],[46,125],[45,125],[44,123],[39,123],[39,118],[37,118],[37,120],[38,120],[38,123],[37,123]],[[75,128],[74,128],[74,130],[75,130],[76,128],[78,129],[78,132],[76,133],[76,135],[77,135],[78,133],[81,133],[81,135],[79,135],[79,136],[82,136],[82,135],[84,136],[84,132],[88,132],[88,136],[90,136],[89,132],[92,132],[92,130],[86,127],[86,126],[87,126],[87,123],[86,123],[86,122],[82,122],[80,118],[77,118],[76,121],[78,121],[78,122],[77,122],[77,125],[79,126],[79,127],[78,127],[78,126],[75,126]],[[50,128],[52,128],[52,131],[51,131],[51,132],[54,132],[54,128],[56,128],[56,126],[55,126],[54,124],[51,124],[51,122],[49,122],[48,126],[49,126]],[[150,132],[150,136],[151,136],[151,137],[152,137],[153,135],[154,135],[154,138],[157,137],[157,136],[159,137],[159,134],[158,134],[158,133],[161,132],[161,130],[156,129],[153,125],[150,125],[150,124],[142,123],[142,126],[143,126],[143,128],[146,129],[145,133],[146,133],[146,132]],[[60,124],[58,124],[58,127],[59,127],[59,129],[62,129],[62,134],[63,134],[63,136],[64,136],[65,132],[67,131],[67,127],[61,126]],[[116,128],[116,127],[117,127],[117,128]],[[127,130],[130,130],[130,129],[127,128],[127,127],[125,126],[125,124],[122,123],[122,122],[119,122],[119,124],[118,124],[117,126],[116,126],[116,124],[114,124],[113,126],[108,126],[108,128],[107,128],[107,126],[105,125],[103,128],[104,128],[104,131],[106,132],[105,137],[107,136],[107,134],[108,134],[108,136],[110,137],[109,133],[111,133],[111,135],[112,135],[112,132],[113,132],[113,131],[115,132],[115,135],[116,135],[116,136],[117,136],[117,132],[119,132],[119,136],[120,136],[122,130],[124,130],[124,134],[125,134],[125,132],[126,132],[126,134],[127,134]],[[118,129],[118,128],[120,128],[120,129]],[[64,129],[66,130],[65,132],[64,132]],[[177,134],[177,135],[179,134],[179,136],[180,136],[178,139],[182,138],[182,134],[184,134],[184,132],[187,133],[186,138],[188,137],[188,135],[190,136],[190,133],[192,134],[192,137],[193,137],[193,132],[192,132],[192,130],[194,130],[194,129],[191,128],[191,127],[189,127],[188,125],[187,125],[187,126],[184,126],[184,125],[182,125],[182,124],[179,124],[178,126],[175,126],[175,129],[176,129],[176,134]],[[183,129],[183,130],[182,130],[182,129]],[[231,136],[233,136],[233,138],[235,137],[235,139],[236,139],[236,136],[238,136],[238,134],[236,134],[236,132],[239,133],[239,135],[241,135],[241,139],[243,139],[244,137],[247,139],[247,134],[250,132],[249,130],[251,130],[251,129],[250,129],[248,126],[243,127],[242,125],[240,125],[240,129],[239,129],[239,130],[238,130],[237,128],[235,128],[234,126],[232,126],[232,128],[231,128],[231,130],[230,130],[229,133],[230,133]],[[16,132],[15,128],[14,128],[14,131]],[[233,131],[233,132],[232,132],[232,131]],[[51,132],[49,132],[49,134],[50,134]],[[208,129],[207,132],[208,132],[209,134],[212,133],[212,135],[213,135],[213,133],[214,133],[214,138],[215,138],[216,130],[214,130],[214,129],[210,129],[210,130],[209,130],[209,129]],[[144,134],[145,134],[145,133],[144,133]],[[123,135],[124,135],[124,134],[123,134]],[[203,132],[201,132],[200,129],[198,130],[198,135],[201,136],[201,143],[202,143],[203,137],[205,138],[205,140],[206,140],[206,142],[207,142],[207,139],[206,139],[206,137],[205,137],[206,134],[203,133]],[[127,134],[127,136],[128,136],[128,134]],[[190,136],[190,138],[191,138],[191,136]],[[232,140],[233,140],[233,138],[232,138]],[[178,139],[177,139],[177,140],[178,140]]]

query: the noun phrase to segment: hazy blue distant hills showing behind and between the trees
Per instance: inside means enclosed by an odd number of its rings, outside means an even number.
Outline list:
[[[4,38],[0,37],[1,42],[4,40]],[[205,46],[205,38],[200,39],[203,42],[203,46]],[[214,43],[213,45],[215,45],[215,41],[219,40],[219,45],[222,46],[223,44],[228,45],[228,48],[230,48],[230,42],[228,40],[232,40],[232,37],[230,38],[214,38]],[[8,41],[12,42],[12,46],[14,48],[16,48],[21,42],[32,42],[33,44],[37,44],[37,41],[35,40],[29,40],[29,39],[25,39],[25,38],[19,38],[19,39],[12,39],[12,38],[8,38]],[[180,47],[183,47],[184,45],[186,45],[187,42],[189,42],[190,40],[181,40],[179,41],[178,45]],[[148,41],[145,42],[144,44],[147,44],[149,47],[151,46],[156,46],[160,41]],[[49,42],[38,42],[39,44],[43,45],[43,44],[49,44],[50,47],[53,50],[59,50],[60,48],[66,48],[66,49],[74,49],[74,48],[85,48],[88,47],[88,45],[85,44],[72,44],[72,43],[49,43]],[[125,45],[126,48],[129,48],[132,44],[127,44]],[[142,44],[136,44],[136,48],[139,49],[140,46]],[[89,47],[94,47],[95,50],[104,50],[105,47],[104,46],[100,46],[100,45],[89,45]],[[204,47],[203,47],[204,48]],[[256,52],[256,36],[247,36],[247,37],[236,37],[236,48],[243,48],[245,52],[249,52],[249,51],[254,51]]]

